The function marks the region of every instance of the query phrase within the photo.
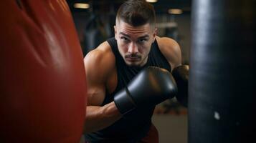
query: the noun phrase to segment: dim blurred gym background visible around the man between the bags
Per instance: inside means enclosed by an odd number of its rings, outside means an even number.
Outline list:
[[[84,56],[114,36],[115,14],[124,0],[67,0]],[[158,36],[175,39],[182,61],[189,64],[191,46],[191,0],[151,0],[156,10]],[[158,104],[153,115],[160,143],[185,143],[188,137],[187,109],[176,99]]]

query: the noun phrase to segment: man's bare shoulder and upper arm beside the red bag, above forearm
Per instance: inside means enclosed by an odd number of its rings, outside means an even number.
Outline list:
[[[87,81],[87,105],[103,103],[108,81],[115,73],[115,56],[107,41],[90,51],[84,59]]]

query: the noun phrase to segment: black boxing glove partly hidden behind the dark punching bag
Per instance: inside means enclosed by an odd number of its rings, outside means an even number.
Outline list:
[[[188,107],[189,65],[176,66],[172,71],[172,75],[178,87],[176,99],[184,107]]]

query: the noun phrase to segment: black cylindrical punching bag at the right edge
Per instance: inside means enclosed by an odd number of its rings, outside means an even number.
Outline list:
[[[255,142],[255,1],[192,5],[189,143]]]

